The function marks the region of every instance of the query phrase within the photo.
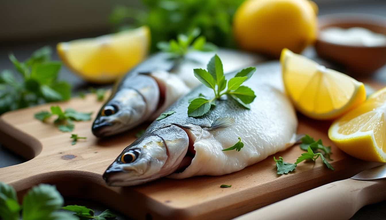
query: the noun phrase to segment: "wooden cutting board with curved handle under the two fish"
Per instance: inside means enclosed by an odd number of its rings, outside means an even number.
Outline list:
[[[0,181],[14,186],[19,197],[31,186],[49,183],[56,185],[63,196],[95,200],[134,219],[229,219],[378,165],[352,158],[333,146],[327,137],[331,122],[313,121],[299,115],[298,133],[310,134],[332,145],[334,161],[331,163],[335,171],[328,170],[318,160],[301,163],[288,175],[276,175],[273,156],[269,156],[244,170],[223,176],[162,178],[140,186],[109,187],[102,180],[102,173],[122,149],[134,141],[138,130],[97,139],[91,134],[92,121],[77,122],[73,133],[87,139],[71,145],[71,133],[59,131],[52,121],[41,123],[34,119],[35,113],[48,110],[51,105],[13,111],[0,117],[0,143],[29,160],[0,169]],[[85,99],[73,98],[58,105],[92,111],[94,118],[102,102],[88,95]],[[294,162],[301,153],[303,151],[294,146],[274,156]],[[222,184],[232,187],[220,188]]]

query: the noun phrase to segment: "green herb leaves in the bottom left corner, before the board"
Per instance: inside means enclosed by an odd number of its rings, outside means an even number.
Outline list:
[[[62,208],[68,212],[58,212]],[[32,187],[24,196],[23,204],[19,205],[15,189],[0,182],[0,218],[3,220],[113,220],[116,216],[109,210],[100,215],[84,206],[68,205],[63,207],[63,197],[55,186],[40,184]]]

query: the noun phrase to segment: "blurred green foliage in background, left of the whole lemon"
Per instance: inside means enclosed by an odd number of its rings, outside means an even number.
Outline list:
[[[142,0],[144,9],[118,6],[110,21],[116,30],[148,25],[152,51],[161,41],[176,38],[195,28],[209,42],[235,47],[232,37],[233,15],[244,0]]]

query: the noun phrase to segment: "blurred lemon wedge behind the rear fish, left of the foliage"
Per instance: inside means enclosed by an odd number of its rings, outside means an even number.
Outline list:
[[[109,83],[141,62],[149,51],[150,30],[139,27],[92,39],[61,42],[59,57],[86,81]]]

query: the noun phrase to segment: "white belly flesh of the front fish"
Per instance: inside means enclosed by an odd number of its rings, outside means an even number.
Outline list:
[[[182,173],[168,177],[180,179],[232,173],[291,146],[295,142],[298,121],[278,75],[262,76],[262,85],[254,89],[256,98],[250,111],[222,116],[235,119],[231,126],[212,131],[197,126],[187,131],[195,139],[196,155]],[[244,148],[239,152],[222,151],[233,146],[238,137]]]

